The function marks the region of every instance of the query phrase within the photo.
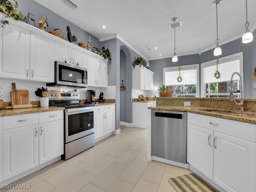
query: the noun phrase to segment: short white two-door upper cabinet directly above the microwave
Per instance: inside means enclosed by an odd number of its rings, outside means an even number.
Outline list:
[[[72,66],[80,66],[87,68],[87,56],[84,52],[66,46],[59,42],[55,42],[55,60],[67,62]]]

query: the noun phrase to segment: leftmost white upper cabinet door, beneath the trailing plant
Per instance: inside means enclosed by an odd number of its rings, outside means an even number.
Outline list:
[[[15,25],[0,28],[0,77],[29,79],[30,31]]]

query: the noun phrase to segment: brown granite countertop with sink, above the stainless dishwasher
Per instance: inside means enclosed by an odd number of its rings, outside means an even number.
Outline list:
[[[165,105],[157,105],[148,107],[148,109],[154,110],[168,110],[168,111],[184,111],[184,112],[192,112],[202,115],[208,115],[213,117],[225,118],[230,120],[236,120],[241,122],[247,122],[256,124],[256,113],[252,112],[242,112],[242,111],[233,111],[233,110],[224,110],[224,109],[216,109],[216,108],[207,108],[207,107],[188,107],[188,106],[165,106]],[[221,112],[234,112],[236,114],[244,114],[244,115],[251,115],[255,117],[246,117],[246,116],[236,116],[232,114],[221,114],[212,111],[221,111]]]

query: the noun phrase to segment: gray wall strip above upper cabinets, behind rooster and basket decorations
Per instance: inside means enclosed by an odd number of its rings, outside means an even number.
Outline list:
[[[78,42],[83,42],[86,44],[86,47],[87,47],[87,43],[88,43],[89,36],[90,36],[92,48],[100,47],[100,42],[99,42],[98,38],[96,38],[95,36],[93,36],[92,34],[86,32],[86,31],[82,30],[80,27],[72,24],[71,22],[69,22],[68,20],[64,19],[63,17],[57,15],[56,13],[52,12],[51,10],[45,8],[41,4],[39,4],[33,0],[17,0],[17,2],[20,5],[20,6],[18,6],[18,11],[22,12],[22,14],[24,16],[27,16],[28,12],[35,15],[32,17],[36,20],[35,23],[36,23],[37,28],[38,28],[38,21],[41,20],[44,15],[46,15],[47,23],[48,23],[47,32],[52,31],[56,28],[59,28],[60,30],[62,30],[64,36],[66,36],[66,40],[68,41],[68,37],[67,37],[68,32],[66,31],[66,27],[68,25],[68,26],[70,26],[72,35],[75,35],[77,38],[77,41],[73,42],[74,44],[77,45]],[[30,25],[34,26],[34,22],[32,22],[31,20],[30,20]]]

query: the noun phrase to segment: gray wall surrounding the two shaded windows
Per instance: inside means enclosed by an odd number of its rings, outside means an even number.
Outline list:
[[[253,35],[254,38],[256,38],[256,30],[254,30]],[[255,98],[256,90],[252,89],[252,72],[256,65],[256,40],[254,39],[254,41],[248,44],[243,44],[242,38],[239,38],[232,42],[226,43],[220,47],[222,49],[222,54],[220,56],[214,56],[214,49],[211,49],[206,52],[203,52],[201,55],[193,54],[186,56],[178,56],[178,62],[172,62],[172,58],[149,61],[150,68],[154,72],[154,87],[160,87],[163,85],[163,68],[165,67],[201,64],[217,58],[243,52],[244,97]]]

